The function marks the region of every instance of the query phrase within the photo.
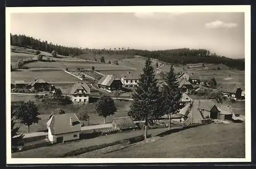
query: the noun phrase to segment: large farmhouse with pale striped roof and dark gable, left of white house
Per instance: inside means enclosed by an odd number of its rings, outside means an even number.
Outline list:
[[[115,75],[105,75],[97,83],[100,89],[106,91],[120,90],[122,88],[122,82],[116,78]]]

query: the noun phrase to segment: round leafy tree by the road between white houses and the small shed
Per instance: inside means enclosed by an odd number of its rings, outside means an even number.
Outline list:
[[[109,95],[105,94],[100,95],[94,109],[97,111],[99,116],[104,117],[104,124],[106,122],[106,117],[115,114],[117,111],[114,100]]]

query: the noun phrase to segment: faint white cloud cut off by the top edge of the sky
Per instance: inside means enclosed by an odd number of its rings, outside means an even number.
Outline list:
[[[135,12],[134,16],[137,18],[163,18],[163,17],[173,17],[182,15],[185,12]]]

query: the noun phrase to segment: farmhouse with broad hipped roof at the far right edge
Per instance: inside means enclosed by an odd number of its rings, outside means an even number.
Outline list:
[[[221,91],[226,97],[232,98],[234,100],[242,99],[243,88],[236,83],[233,84],[221,84],[217,91]],[[244,96],[244,95],[243,95]]]

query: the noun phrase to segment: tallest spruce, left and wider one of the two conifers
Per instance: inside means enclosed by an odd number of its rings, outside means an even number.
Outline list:
[[[132,95],[133,103],[128,112],[136,120],[145,120],[145,139],[147,137],[148,123],[161,116],[160,112],[160,92],[155,78],[152,61],[148,57],[145,61],[143,74],[140,75],[138,86]]]

